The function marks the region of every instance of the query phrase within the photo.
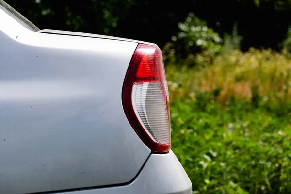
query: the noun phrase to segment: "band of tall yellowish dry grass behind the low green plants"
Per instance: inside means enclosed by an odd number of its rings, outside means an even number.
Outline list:
[[[170,93],[176,97],[205,91],[221,104],[229,97],[275,106],[291,102],[291,59],[271,50],[237,50],[214,58],[206,67],[168,65],[166,72]]]

